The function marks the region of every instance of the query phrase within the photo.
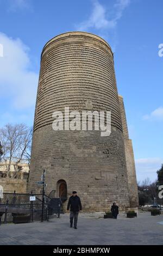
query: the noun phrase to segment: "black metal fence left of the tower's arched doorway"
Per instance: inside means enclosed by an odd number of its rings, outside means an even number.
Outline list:
[[[30,196],[35,196],[34,201],[30,201]],[[43,209],[43,211],[42,211]],[[4,214],[4,223],[7,223],[7,214],[15,216],[30,216],[30,221],[47,220],[49,216],[57,214],[60,216],[62,209],[62,201],[60,198],[51,198],[45,195],[42,202],[42,194],[31,193],[3,193],[3,198],[0,199],[0,224],[1,217]],[[42,218],[43,216],[43,218]],[[29,219],[29,218],[28,218]]]

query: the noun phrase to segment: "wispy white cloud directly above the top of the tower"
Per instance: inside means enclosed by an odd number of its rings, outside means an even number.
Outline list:
[[[122,17],[125,8],[128,7],[130,0],[117,0],[114,4],[112,17],[108,18],[108,10],[97,0],[93,2],[93,9],[89,19],[81,22],[76,29],[78,31],[88,31],[91,28],[109,29],[115,28],[117,21]]]

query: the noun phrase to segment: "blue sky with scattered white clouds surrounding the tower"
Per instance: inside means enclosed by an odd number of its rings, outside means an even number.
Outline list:
[[[68,31],[97,34],[114,52],[137,181],[155,181],[163,163],[162,9],[162,0],[0,0],[0,127],[33,125],[49,39]]]

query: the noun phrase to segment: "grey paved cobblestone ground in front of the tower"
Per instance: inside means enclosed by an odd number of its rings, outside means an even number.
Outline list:
[[[118,220],[79,214],[78,229],[70,228],[69,215],[49,222],[2,224],[0,245],[162,245],[163,215],[121,215]]]

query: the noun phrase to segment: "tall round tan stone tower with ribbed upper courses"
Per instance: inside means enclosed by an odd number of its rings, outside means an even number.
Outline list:
[[[79,113],[111,111],[110,136],[95,130],[54,131],[53,112],[64,113],[65,107]],[[120,209],[137,206],[134,155],[113,54],[97,35],[68,32],[43,47],[29,190],[39,192],[36,181],[43,169],[46,194],[66,198],[76,190],[84,211],[105,211],[112,202]]]

